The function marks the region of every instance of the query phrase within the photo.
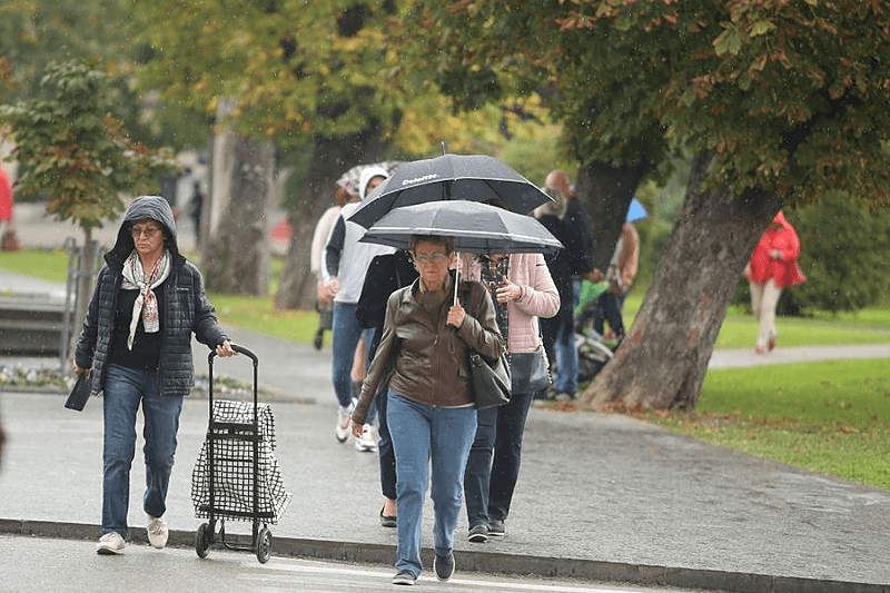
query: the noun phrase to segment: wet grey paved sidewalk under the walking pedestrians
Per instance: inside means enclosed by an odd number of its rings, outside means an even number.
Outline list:
[[[0,274],[0,290],[24,286]],[[30,285],[29,285],[30,286]],[[44,286],[46,288],[46,286]],[[376,455],[333,433],[329,350],[231,330],[259,357],[274,407],[277,457],[295,501],[271,527],[276,553],[390,564],[396,534],[377,521]],[[789,348],[789,350],[791,350]],[[196,345],[196,367],[206,372]],[[780,362],[775,354],[756,357]],[[809,352],[809,354],[808,354]],[[832,348],[832,356],[852,349]],[[887,347],[856,349],[888,357]],[[735,366],[739,355],[726,354]],[[795,358],[825,356],[801,349]],[[723,354],[715,353],[721,357]],[[752,355],[753,356],[753,355]],[[9,359],[0,359],[8,363]],[[21,362],[21,360],[19,360]],[[58,365],[58,360],[51,362]],[[249,380],[245,357],[215,372]],[[0,473],[0,532],[93,538],[101,501],[101,399],[82,413],[65,394],[0,394],[9,444]],[[169,493],[172,542],[190,545],[200,521],[191,467],[207,427],[206,398],[187,399]],[[726,591],[890,592],[890,492],[851,484],[676,436],[611,414],[533,408],[507,535],[477,545],[457,532],[459,570],[522,572]],[[137,453],[130,518],[144,525]],[[248,524],[230,523],[247,533]],[[432,507],[424,542],[431,543]],[[136,541],[144,541],[135,528]],[[211,551],[212,554],[212,551]],[[427,562],[431,554],[425,554]]]

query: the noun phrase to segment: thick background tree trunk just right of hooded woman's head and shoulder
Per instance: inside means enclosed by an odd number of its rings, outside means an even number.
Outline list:
[[[276,187],[275,146],[231,131],[215,139],[201,264],[208,290],[266,295],[270,245],[266,207]],[[209,206],[209,208],[207,208]]]

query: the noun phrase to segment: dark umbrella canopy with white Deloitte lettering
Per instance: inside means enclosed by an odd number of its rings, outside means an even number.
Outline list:
[[[400,165],[349,218],[369,228],[386,213],[436,200],[500,200],[528,214],[551,198],[506,164],[486,155],[443,155]]]

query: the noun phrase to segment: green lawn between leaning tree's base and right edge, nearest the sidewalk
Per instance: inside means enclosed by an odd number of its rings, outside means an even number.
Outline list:
[[[694,412],[642,417],[733,449],[890,490],[890,360],[711,370]]]

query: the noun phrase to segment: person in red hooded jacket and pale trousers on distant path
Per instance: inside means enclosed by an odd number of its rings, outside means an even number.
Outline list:
[[[785,286],[807,280],[798,266],[800,239],[780,210],[760,238],[744,275],[751,287],[751,308],[760,323],[754,352],[764,354],[775,348],[775,306]]]

